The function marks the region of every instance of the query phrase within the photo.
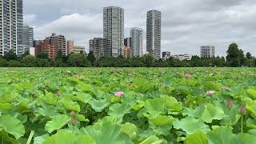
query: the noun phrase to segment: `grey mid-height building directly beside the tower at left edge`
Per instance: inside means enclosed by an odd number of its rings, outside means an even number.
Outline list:
[[[33,27],[23,26],[22,43],[24,52],[30,51],[30,47],[34,46],[34,30]]]

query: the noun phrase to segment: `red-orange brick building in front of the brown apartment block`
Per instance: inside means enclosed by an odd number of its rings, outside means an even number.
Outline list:
[[[50,45],[47,39],[42,40],[35,46],[35,55],[41,54],[42,52],[46,52],[48,54],[48,58],[55,59],[58,54],[58,47],[54,45]]]

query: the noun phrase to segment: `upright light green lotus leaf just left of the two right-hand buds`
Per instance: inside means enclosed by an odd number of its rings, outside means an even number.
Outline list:
[[[211,123],[214,119],[221,120],[224,116],[222,108],[208,104],[201,118],[204,122]]]

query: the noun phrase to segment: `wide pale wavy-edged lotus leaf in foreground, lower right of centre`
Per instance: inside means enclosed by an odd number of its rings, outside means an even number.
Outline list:
[[[175,129],[182,129],[186,132],[186,134],[193,134],[196,130],[202,130],[203,132],[210,131],[209,126],[207,126],[202,119],[195,119],[192,117],[186,117],[179,120],[174,121]]]

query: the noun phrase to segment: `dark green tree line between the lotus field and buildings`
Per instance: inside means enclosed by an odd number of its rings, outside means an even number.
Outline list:
[[[244,54],[243,50],[238,49],[235,43],[230,44],[226,58],[199,58],[193,56],[190,61],[179,61],[178,59],[169,58],[163,61],[162,59],[154,60],[150,54],[145,54],[141,58],[123,58],[119,56],[102,57],[96,59],[94,54],[90,52],[88,55],[81,52],[80,54],[69,54],[63,56],[59,51],[57,58],[50,59],[48,54],[42,52],[34,57],[28,52],[18,58],[12,50],[6,53],[4,57],[0,57],[0,66],[2,67],[210,67],[210,66],[230,66],[241,67],[256,66],[256,58],[250,53]]]

